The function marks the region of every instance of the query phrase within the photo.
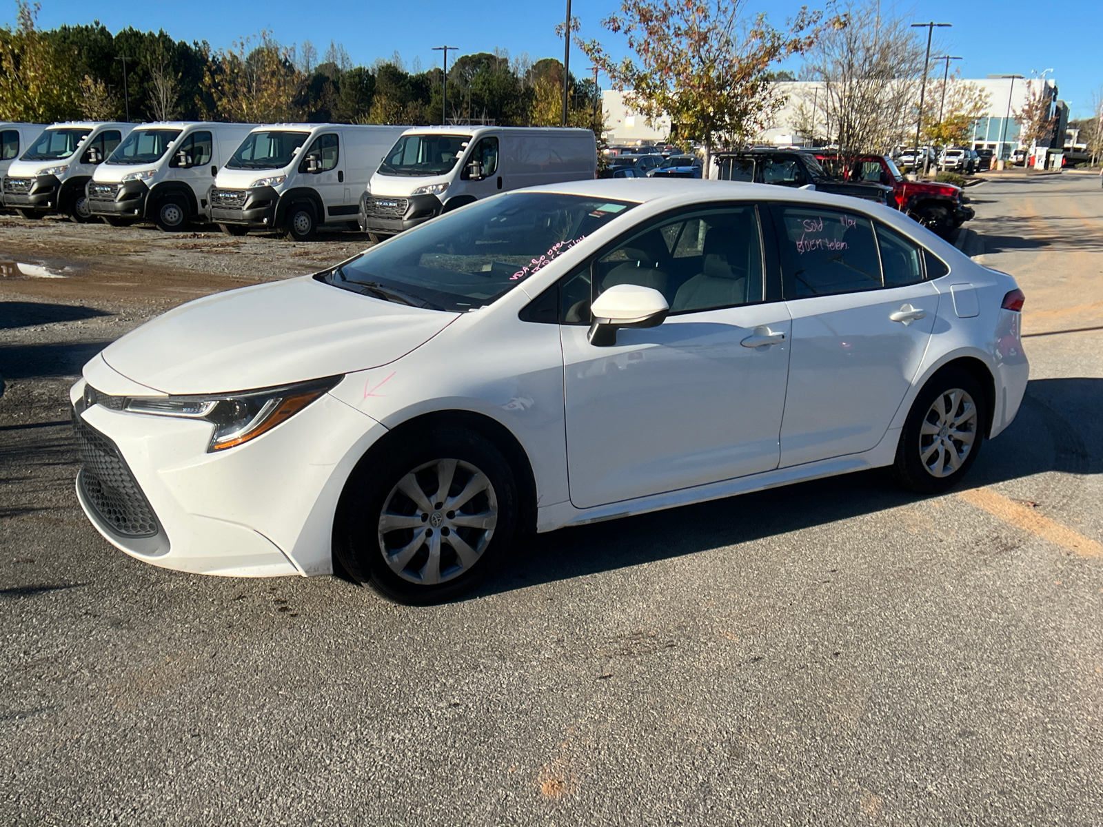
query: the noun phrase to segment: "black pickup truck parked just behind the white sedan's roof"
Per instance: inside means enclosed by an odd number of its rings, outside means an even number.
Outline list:
[[[836,195],[889,204],[892,189],[870,181],[845,181],[831,175],[806,150],[751,149],[720,152],[713,158],[713,178],[760,184],[808,187]]]

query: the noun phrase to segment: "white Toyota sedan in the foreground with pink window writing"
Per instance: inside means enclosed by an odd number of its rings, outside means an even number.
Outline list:
[[[443,600],[525,531],[878,466],[947,490],[1018,410],[1021,305],[864,201],[518,190],[111,344],[77,494],[158,566]]]

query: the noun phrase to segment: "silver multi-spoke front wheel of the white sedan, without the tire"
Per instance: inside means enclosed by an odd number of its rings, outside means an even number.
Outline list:
[[[404,580],[443,583],[479,562],[497,519],[486,474],[462,460],[433,460],[403,476],[384,500],[379,551]]]

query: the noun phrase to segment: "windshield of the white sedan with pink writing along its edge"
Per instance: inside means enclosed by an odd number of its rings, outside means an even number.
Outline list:
[[[505,296],[635,204],[516,192],[476,202],[319,273],[334,287],[465,312]]]

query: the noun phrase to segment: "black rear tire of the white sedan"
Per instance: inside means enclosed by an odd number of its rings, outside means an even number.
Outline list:
[[[954,391],[964,391],[964,395],[955,396]],[[959,427],[943,428],[940,425],[940,416],[934,409],[935,402],[941,406],[940,410],[945,411],[955,405],[955,400],[956,407],[949,415],[952,420],[965,416],[970,407],[972,416],[965,417]],[[968,401],[972,401],[972,406],[968,406]],[[893,480],[918,494],[941,494],[952,488],[968,473],[976,461],[976,455],[981,452],[988,422],[987,416],[984,390],[972,374],[952,366],[939,370],[919,391],[908,414],[903,430],[900,432],[900,442],[897,444],[896,462],[890,471]],[[923,433],[924,423],[930,426],[927,428],[928,431],[936,426],[939,430]],[[966,433],[972,434],[973,441],[962,457],[966,443],[961,439],[954,439],[954,436],[964,437]],[[952,448],[939,448],[939,442],[943,445],[951,444]],[[932,447],[933,453],[931,453]],[[951,451],[960,464],[955,470],[944,472],[946,464],[952,466],[954,462]]]

